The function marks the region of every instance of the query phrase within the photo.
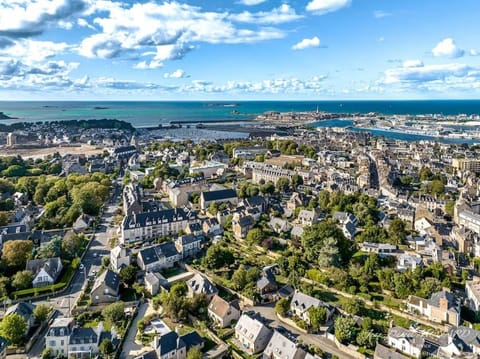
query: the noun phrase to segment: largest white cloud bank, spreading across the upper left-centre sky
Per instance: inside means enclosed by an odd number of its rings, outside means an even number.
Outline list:
[[[153,59],[135,65],[156,68],[163,61],[182,58],[193,49],[194,42],[252,43],[285,36],[272,27],[258,25],[293,21],[299,15],[289,5],[271,12],[229,14],[207,12],[200,7],[177,2],[118,3],[95,2],[97,17],[93,24],[101,33],[93,34],[80,43],[78,53],[86,57],[111,59],[127,52],[155,51]],[[100,10],[101,9],[101,10]],[[91,10],[90,10],[91,11]],[[255,29],[239,28],[234,23],[254,23]]]

